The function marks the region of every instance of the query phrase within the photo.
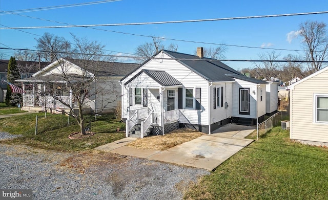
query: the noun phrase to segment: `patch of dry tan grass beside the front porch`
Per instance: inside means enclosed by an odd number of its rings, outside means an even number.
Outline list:
[[[181,128],[166,134],[165,136],[151,136],[137,139],[127,146],[137,149],[166,150],[176,145],[191,141],[203,135],[202,132],[188,128]]]

